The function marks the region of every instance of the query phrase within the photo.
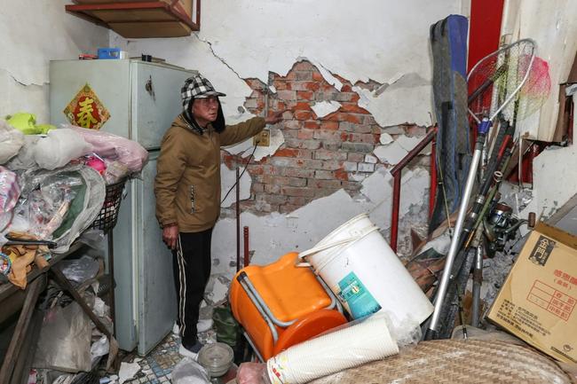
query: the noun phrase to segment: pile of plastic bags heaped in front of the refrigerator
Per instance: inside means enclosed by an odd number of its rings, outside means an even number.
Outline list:
[[[20,265],[19,253],[4,247],[13,239],[66,252],[99,215],[106,185],[135,176],[147,160],[137,142],[106,132],[38,125],[26,113],[0,120],[0,274],[12,280]]]

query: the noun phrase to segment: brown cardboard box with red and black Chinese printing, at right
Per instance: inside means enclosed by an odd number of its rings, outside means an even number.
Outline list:
[[[577,238],[539,223],[487,317],[565,363],[577,363]]]

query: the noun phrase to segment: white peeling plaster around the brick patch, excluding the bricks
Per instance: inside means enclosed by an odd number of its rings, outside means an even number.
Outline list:
[[[468,15],[469,10],[468,2],[462,0],[222,0],[202,5],[202,31],[198,34],[170,40],[126,40],[111,33],[110,45],[129,51],[130,56],[152,54],[171,64],[199,70],[227,94],[223,105],[228,122],[246,120],[252,115],[245,104],[254,93],[250,79],[278,92],[271,87],[271,75],[285,76],[299,61],[312,63],[336,91],[342,90],[344,83],[355,85],[352,92],[360,98],[358,106],[374,118],[373,124],[378,124],[375,137],[377,144],[385,147],[381,150],[383,161],[376,164],[379,160],[373,153],[363,154],[366,167],[371,170],[367,178],[351,181],[362,183],[356,193],[336,190],[287,214],[256,215],[243,211],[241,225],[250,228],[253,262],[269,263],[287,252],[314,246],[329,231],[361,212],[368,212],[383,234],[389,236],[388,168],[399,156],[392,159],[386,146],[407,134],[406,129],[394,126],[406,122],[431,124],[429,27],[448,14],[463,12]],[[340,100],[317,100],[320,101]],[[320,115],[330,112],[326,104],[317,108],[315,112]],[[262,112],[258,108],[251,110]],[[273,145],[258,147],[256,161],[267,159],[277,149],[283,151],[286,140],[288,137],[273,127]],[[407,153],[413,142],[414,138],[406,137],[396,145],[400,153]],[[228,153],[241,153],[245,160],[250,151],[251,142],[227,148]],[[426,217],[429,171],[419,164],[407,169],[403,176],[399,248],[407,246],[402,241],[403,234]],[[234,220],[223,216],[214,232],[213,272],[231,272],[234,233]]]

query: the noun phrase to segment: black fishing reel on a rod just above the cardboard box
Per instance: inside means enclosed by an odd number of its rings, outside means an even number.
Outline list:
[[[497,203],[483,221],[486,255],[493,258],[496,252],[502,252],[505,244],[515,238],[518,228],[527,224],[529,228],[535,225],[534,212],[527,219],[513,216],[513,209],[507,204]]]

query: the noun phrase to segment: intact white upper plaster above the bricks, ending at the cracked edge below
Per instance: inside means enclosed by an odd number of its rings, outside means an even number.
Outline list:
[[[457,0],[222,0],[203,4],[201,35],[244,78],[286,74],[300,57],[353,83],[407,72],[429,78],[429,27],[460,11]]]

